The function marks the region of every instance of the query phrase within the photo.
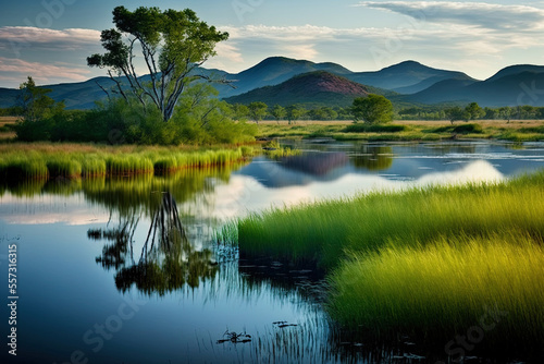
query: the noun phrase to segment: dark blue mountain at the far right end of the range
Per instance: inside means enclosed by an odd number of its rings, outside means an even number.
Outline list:
[[[514,65],[479,82],[442,81],[420,93],[400,97],[421,104],[478,102],[482,107],[544,106],[544,66]]]

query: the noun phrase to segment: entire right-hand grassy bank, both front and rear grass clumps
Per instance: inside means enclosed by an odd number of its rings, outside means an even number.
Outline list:
[[[530,348],[544,340],[543,214],[540,172],[273,209],[237,233],[245,256],[325,267],[345,326],[445,343],[495,307],[507,315],[486,344]]]

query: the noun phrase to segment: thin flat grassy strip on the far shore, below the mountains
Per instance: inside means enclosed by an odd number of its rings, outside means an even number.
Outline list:
[[[337,141],[442,141],[489,138],[511,142],[544,141],[543,121],[478,120],[465,123],[448,121],[395,121],[386,125],[354,124],[349,121],[261,122],[261,137],[332,137]]]

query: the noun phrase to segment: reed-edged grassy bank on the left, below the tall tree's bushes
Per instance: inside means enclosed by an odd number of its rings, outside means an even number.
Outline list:
[[[252,153],[252,147],[184,150],[173,147],[15,143],[0,146],[0,177],[17,180],[164,174],[186,168],[224,166]]]

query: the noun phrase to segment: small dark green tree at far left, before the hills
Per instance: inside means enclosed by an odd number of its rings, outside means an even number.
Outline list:
[[[35,122],[64,109],[64,102],[55,102],[47,95],[51,89],[36,86],[30,76],[18,88],[17,107],[25,121]]]

